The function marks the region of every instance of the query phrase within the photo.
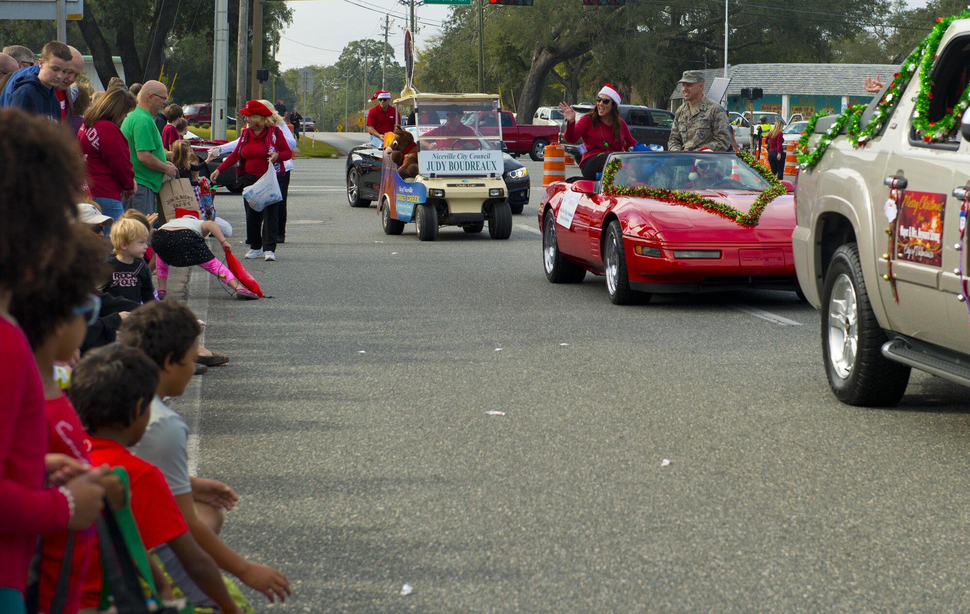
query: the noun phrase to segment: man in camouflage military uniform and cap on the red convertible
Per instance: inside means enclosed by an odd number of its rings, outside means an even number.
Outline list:
[[[696,151],[707,147],[713,151],[730,149],[730,127],[721,105],[704,97],[704,74],[685,71],[680,78],[684,103],[673,116],[669,151]]]

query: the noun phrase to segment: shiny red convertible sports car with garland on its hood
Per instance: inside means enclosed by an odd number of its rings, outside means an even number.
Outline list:
[[[538,210],[546,277],[605,275],[618,305],[654,292],[799,292],[792,192],[747,154],[613,154],[602,181],[546,189]]]

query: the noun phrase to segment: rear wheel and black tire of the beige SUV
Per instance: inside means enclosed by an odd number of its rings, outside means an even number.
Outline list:
[[[910,367],[883,355],[887,341],[869,302],[858,246],[846,243],[832,255],[822,293],[825,375],[838,400],[863,407],[899,402]]]

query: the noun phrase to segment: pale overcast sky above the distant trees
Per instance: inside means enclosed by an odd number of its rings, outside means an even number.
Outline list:
[[[921,7],[926,4],[926,0],[908,0],[907,4]],[[404,25],[408,8],[399,4],[398,0],[295,0],[289,6],[293,9],[293,25],[280,33],[279,53],[276,55],[283,70],[310,64],[333,64],[347,43],[366,38],[379,40],[383,36],[384,15],[388,13],[391,14],[388,43],[394,46],[398,61],[403,60]],[[519,7],[489,6],[485,10],[528,11]],[[415,39],[418,47],[427,44],[435,36],[437,26],[448,14],[447,6],[415,8],[417,18],[426,20],[425,23],[419,22],[420,31]]]

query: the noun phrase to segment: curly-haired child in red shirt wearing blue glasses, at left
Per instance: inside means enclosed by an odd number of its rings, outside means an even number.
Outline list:
[[[99,301],[91,289],[100,285],[108,273],[104,262],[104,243],[86,229],[74,231],[78,249],[68,261],[68,268],[50,279],[49,287],[17,291],[13,314],[30,342],[44,385],[45,411],[48,424],[49,452],[64,454],[82,464],[89,464],[87,434],[71,402],[54,380],[54,364],[69,363],[84,339],[86,322],[96,318]],[[114,507],[124,503],[121,482],[116,476],[103,476]],[[67,543],[74,534],[70,558]],[[51,604],[62,563],[70,562],[63,614],[73,614],[81,607],[81,579],[96,544],[92,529],[58,531],[41,537],[41,562],[38,586],[39,611],[51,611]]]

